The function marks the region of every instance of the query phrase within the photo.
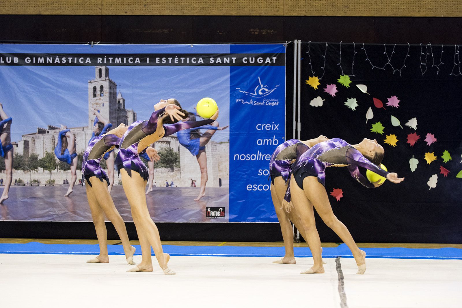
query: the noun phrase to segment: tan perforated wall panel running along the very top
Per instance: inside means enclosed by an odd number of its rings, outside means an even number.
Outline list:
[[[0,14],[462,17],[462,0],[1,0]]]

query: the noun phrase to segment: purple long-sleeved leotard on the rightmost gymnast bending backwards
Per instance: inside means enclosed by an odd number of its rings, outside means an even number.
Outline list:
[[[301,189],[303,189],[304,178],[309,176],[317,177],[318,182],[325,185],[326,174],[324,171],[330,166],[346,166],[351,176],[367,188],[374,188],[374,184],[359,172],[359,167],[376,172],[383,177],[389,173],[371,163],[345,140],[334,138],[320,142],[301,154],[292,165],[292,174]],[[290,184],[284,199],[290,201]]]

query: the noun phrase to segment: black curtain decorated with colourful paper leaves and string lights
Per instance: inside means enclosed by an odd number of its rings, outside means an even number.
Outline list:
[[[383,164],[406,178],[401,184],[387,181],[367,189],[346,168],[326,170],[328,194],[334,188],[343,191],[340,201],[329,196],[334,213],[357,242],[462,243],[462,178],[456,178],[462,170],[461,60],[458,45],[302,43],[302,140],[318,135],[350,144],[377,139],[385,148]],[[349,87],[338,81],[341,75],[351,80]],[[305,82],[316,85],[310,77],[320,79],[317,89]],[[324,92],[332,84],[338,90],[334,97]],[[357,84],[366,85],[369,94]],[[322,106],[311,106],[318,96],[324,100]],[[396,105],[394,96],[399,107],[387,106],[389,101]],[[377,108],[374,98],[384,108]],[[355,110],[345,105],[348,99],[356,99]],[[369,107],[373,118],[366,123]],[[392,116],[402,128],[392,125]],[[416,130],[405,125],[411,118],[417,118]],[[383,134],[371,131],[377,122],[384,127]],[[407,143],[412,133],[420,136],[413,146]],[[437,141],[427,145],[427,133]],[[398,139],[395,146],[384,143],[391,134]],[[452,160],[442,158],[445,150]],[[433,153],[436,160],[428,164],[426,153]],[[412,157],[419,160],[414,172]],[[441,167],[450,171],[444,171],[447,177]],[[434,174],[438,182],[430,189],[427,182]],[[337,239],[317,219],[321,240]]]

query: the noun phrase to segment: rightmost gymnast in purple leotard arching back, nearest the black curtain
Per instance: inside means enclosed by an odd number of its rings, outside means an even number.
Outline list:
[[[360,250],[346,226],[335,217],[330,206],[326,189],[324,188],[327,167],[347,167],[351,176],[368,188],[382,184],[370,183],[359,172],[359,167],[386,177],[390,182],[400,183],[404,178],[398,178],[395,172],[387,172],[377,165],[383,160],[384,149],[376,140],[364,139],[358,144],[350,145],[345,140],[334,138],[318,143],[301,154],[292,165],[290,182],[283,205],[290,209],[290,201],[297,210],[304,229],[304,237],[310,246],[314,265],[302,274],[323,273],[321,257],[321,241],[316,230],[313,207],[324,223],[331,228],[351,250],[358,266],[357,274],[366,271],[365,252]],[[279,154],[285,155],[284,151]],[[294,183],[295,182],[295,183]],[[292,183],[292,184],[291,184]]]

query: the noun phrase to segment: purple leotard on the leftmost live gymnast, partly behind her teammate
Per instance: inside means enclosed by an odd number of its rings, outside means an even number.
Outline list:
[[[120,138],[116,135],[101,135],[91,140],[88,147],[85,149],[82,162],[82,185],[84,178],[91,186],[90,178],[97,177],[101,182],[106,180],[109,186],[109,178],[106,172],[99,165],[104,154],[112,150],[119,144]]]

